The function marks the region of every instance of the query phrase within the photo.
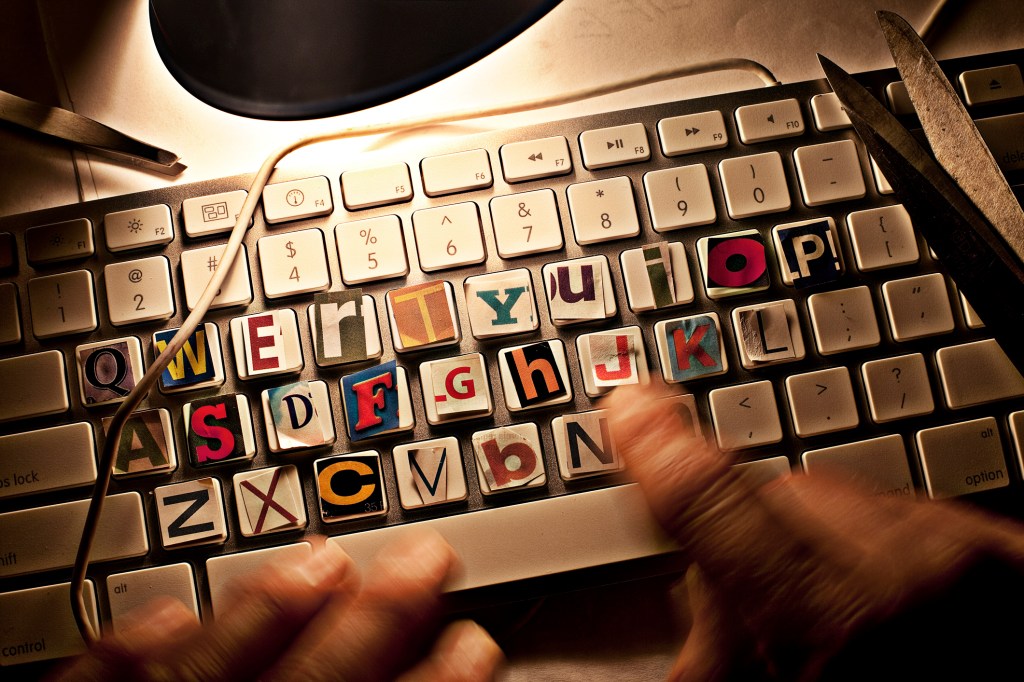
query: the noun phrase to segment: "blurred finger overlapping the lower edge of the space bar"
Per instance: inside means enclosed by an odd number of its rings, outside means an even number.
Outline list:
[[[422,650],[456,566],[433,530],[409,532],[375,557],[353,599],[329,601],[296,638],[269,679],[389,680]]]

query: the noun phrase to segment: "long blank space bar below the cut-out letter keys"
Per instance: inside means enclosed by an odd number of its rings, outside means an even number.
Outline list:
[[[636,484],[353,532],[331,539],[366,567],[385,543],[431,527],[462,570],[452,592],[671,552]]]

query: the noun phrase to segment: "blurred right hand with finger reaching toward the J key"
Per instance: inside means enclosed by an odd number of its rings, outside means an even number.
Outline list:
[[[654,516],[692,562],[693,625],[674,679],[722,680],[736,662],[813,679],[855,637],[984,559],[1024,571],[1024,529],[1007,519],[820,475],[759,486],[710,445],[681,445],[675,412],[657,397],[627,386],[602,407]]]

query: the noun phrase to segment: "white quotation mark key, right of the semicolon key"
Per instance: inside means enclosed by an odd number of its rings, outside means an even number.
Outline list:
[[[887,282],[882,285],[882,298],[897,341],[953,331],[946,280],[939,272]]]

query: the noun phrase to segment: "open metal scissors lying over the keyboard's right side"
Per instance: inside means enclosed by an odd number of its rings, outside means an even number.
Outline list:
[[[914,226],[1024,373],[1024,211],[935,57],[898,14],[878,12],[932,153],[852,76],[825,78]]]

